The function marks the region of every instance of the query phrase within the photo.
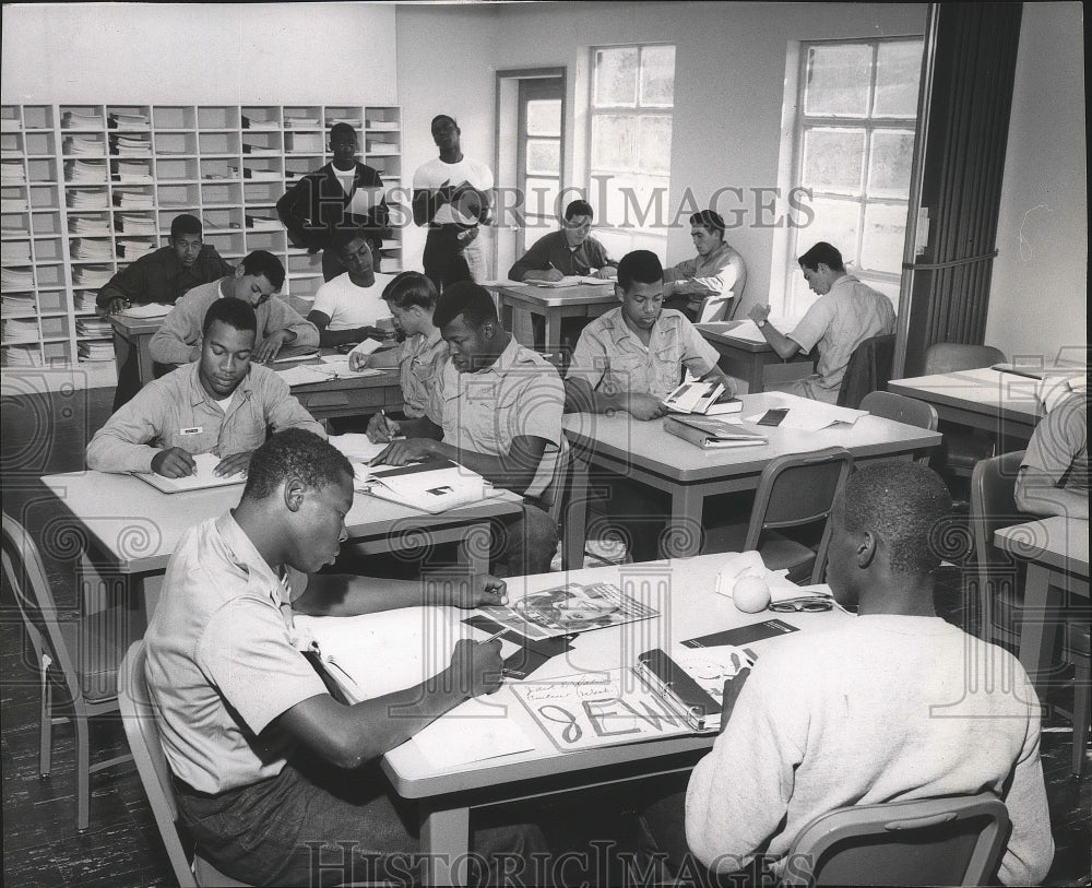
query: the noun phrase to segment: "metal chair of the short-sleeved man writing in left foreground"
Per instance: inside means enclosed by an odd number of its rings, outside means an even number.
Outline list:
[[[179,888],[244,886],[246,883],[225,876],[198,854],[193,841],[178,822],[175,786],[170,767],[159,744],[159,726],[156,724],[155,707],[147,692],[144,661],[144,642],[134,641],[118,671],[118,699],[126,736],[136,762],[136,772],[152,806],[155,825],[159,828],[167,857],[175,871],[175,879]]]

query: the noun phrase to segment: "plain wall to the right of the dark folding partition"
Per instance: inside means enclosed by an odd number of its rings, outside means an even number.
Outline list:
[[[986,342],[1012,358],[1088,342],[1080,3],[1024,3]]]

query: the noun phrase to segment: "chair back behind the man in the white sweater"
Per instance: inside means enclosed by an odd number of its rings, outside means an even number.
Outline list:
[[[1009,814],[993,793],[853,805],[816,817],[783,885],[990,885]]]

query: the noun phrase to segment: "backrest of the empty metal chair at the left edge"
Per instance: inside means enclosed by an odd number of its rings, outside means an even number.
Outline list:
[[[79,673],[61,634],[57,604],[38,547],[23,525],[7,512],[3,512],[2,523],[3,575],[19,605],[38,667],[55,665],[72,699],[80,700],[83,691]]]

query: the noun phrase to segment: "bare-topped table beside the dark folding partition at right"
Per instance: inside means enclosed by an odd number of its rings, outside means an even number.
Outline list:
[[[1016,450],[1031,439],[1042,416],[1038,384],[1037,379],[982,367],[892,379],[887,389],[933,404],[941,422],[983,429],[1011,442],[1002,450]]]

